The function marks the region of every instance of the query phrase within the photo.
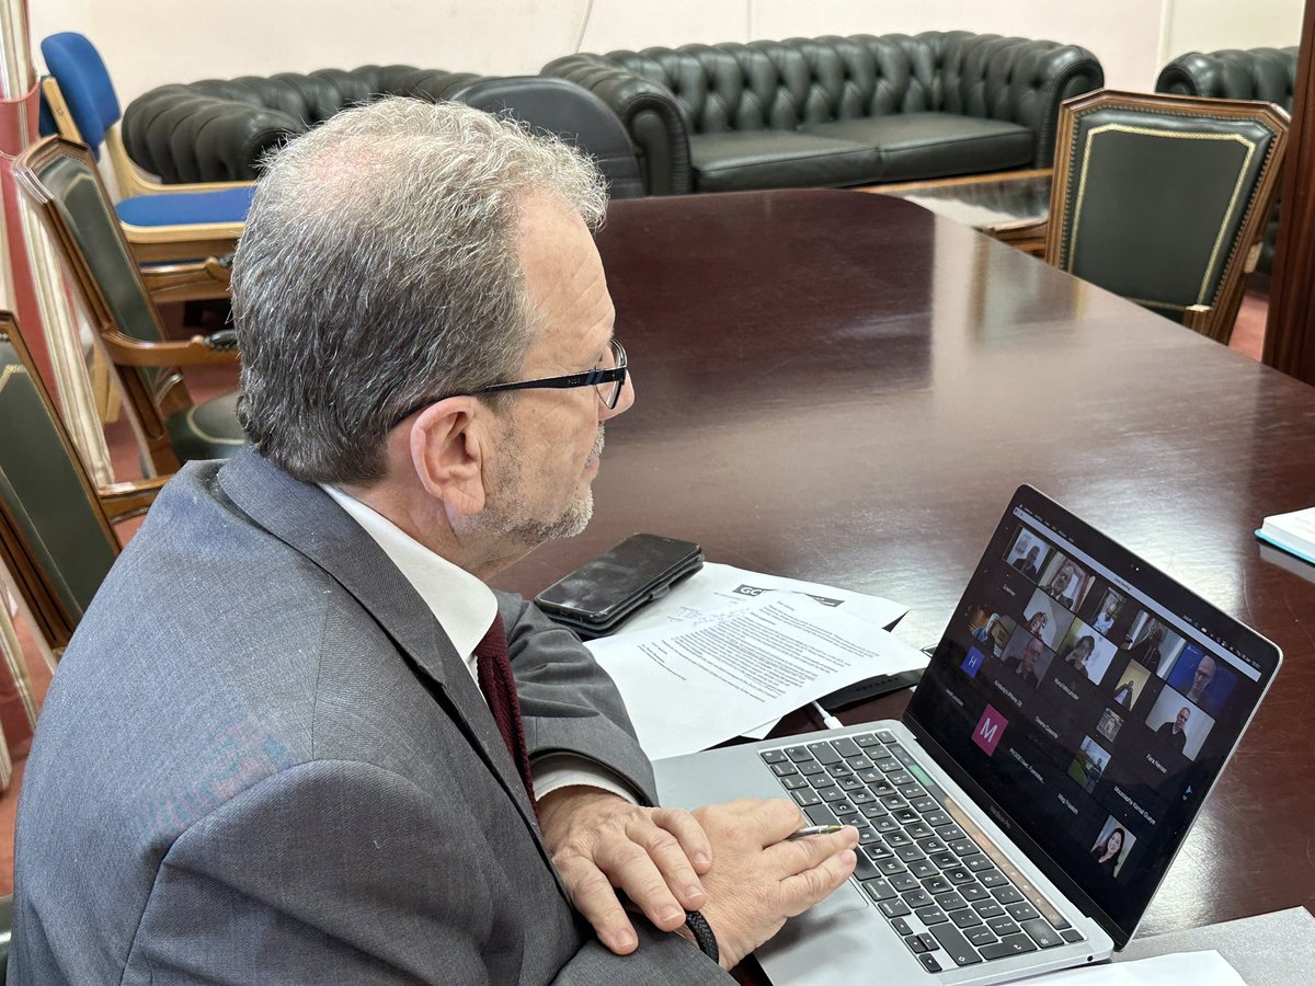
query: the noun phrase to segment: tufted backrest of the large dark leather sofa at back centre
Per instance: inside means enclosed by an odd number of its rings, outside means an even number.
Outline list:
[[[685,45],[605,58],[669,89],[696,134],[936,110],[1041,129],[1056,63],[1085,72],[1065,96],[1101,82],[1084,49],[968,32]]]

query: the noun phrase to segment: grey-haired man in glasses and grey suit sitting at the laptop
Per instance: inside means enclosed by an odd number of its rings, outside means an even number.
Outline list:
[[[579,155],[452,105],[270,164],[254,450],[168,484],[68,647],[11,982],[722,981],[852,872],[852,828],[782,843],[788,801],[646,807],[610,680],[484,584],[584,528],[634,401],[602,209]]]

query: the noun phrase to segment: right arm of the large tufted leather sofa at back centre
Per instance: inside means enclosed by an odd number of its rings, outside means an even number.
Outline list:
[[[1060,104],[1105,84],[1099,60],[1077,45],[965,32],[942,37],[945,109],[1028,128],[1032,167],[1055,162]]]

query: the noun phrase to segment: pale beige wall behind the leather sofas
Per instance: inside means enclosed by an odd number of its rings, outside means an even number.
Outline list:
[[[78,30],[126,104],[167,82],[367,62],[533,74],[575,50],[588,0],[32,0],[32,34]],[[581,49],[965,29],[1091,49],[1149,89],[1166,54],[1295,39],[1302,0],[594,0]]]

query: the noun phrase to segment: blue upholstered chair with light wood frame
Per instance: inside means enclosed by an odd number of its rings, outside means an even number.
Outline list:
[[[142,263],[191,260],[233,250],[255,185],[210,183],[162,185],[145,179],[124,150],[114,85],[96,47],[82,34],[63,32],[41,42],[50,75],[42,80],[43,133],[91,147],[104,145],[118,192],[116,209],[124,235]]]

